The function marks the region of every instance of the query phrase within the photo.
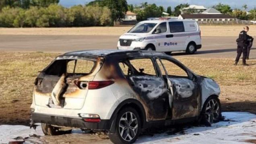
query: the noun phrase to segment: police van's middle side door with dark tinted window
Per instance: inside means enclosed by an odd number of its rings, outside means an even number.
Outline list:
[[[169,47],[170,51],[186,50],[186,37],[182,21],[169,22]]]

